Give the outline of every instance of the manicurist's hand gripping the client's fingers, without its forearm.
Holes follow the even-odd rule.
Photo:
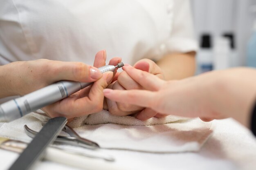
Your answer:
[[[163,79],[163,73],[161,68],[155,64],[152,60],[143,59],[138,61],[135,65],[135,68],[146,71],[150,75],[154,77],[159,77]],[[113,82],[108,86],[110,89],[117,89],[117,90],[131,90],[131,89],[145,89],[145,87],[141,86],[138,82],[130,77],[126,71],[122,71],[117,78],[117,81]],[[141,106],[136,106],[127,103],[120,103],[115,102],[110,99],[106,99],[108,110],[112,115],[124,116],[124,115],[131,115],[137,113],[137,119],[146,120],[151,117],[163,117],[165,115],[157,114],[154,110],[150,108],[144,108]]]

